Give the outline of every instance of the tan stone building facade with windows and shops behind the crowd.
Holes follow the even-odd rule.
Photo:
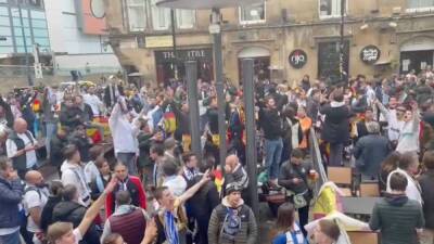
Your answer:
[[[122,65],[145,79],[175,76],[170,11],[156,0],[105,0],[110,42]],[[434,1],[346,0],[345,69],[369,78],[420,72],[434,60]],[[196,60],[200,77],[213,79],[210,11],[176,11],[178,76]],[[224,70],[240,79],[240,60],[255,59],[255,72],[271,80],[299,81],[339,74],[341,0],[268,0],[225,9]]]

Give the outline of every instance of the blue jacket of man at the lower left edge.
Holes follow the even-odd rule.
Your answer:
[[[0,177],[0,229],[20,226],[18,204],[23,194],[20,179],[8,181]]]

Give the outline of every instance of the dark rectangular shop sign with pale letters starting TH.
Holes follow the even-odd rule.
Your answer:
[[[175,61],[174,51],[155,51],[156,63],[166,63]],[[210,49],[191,49],[191,50],[178,50],[177,60],[180,62],[186,61],[212,61],[213,52]]]

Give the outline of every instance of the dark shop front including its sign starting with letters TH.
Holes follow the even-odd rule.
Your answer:
[[[178,50],[177,56],[171,50],[155,51],[156,78],[158,82],[167,82],[170,79],[186,79],[187,61],[197,62],[197,78],[203,81],[210,81],[214,77],[213,50],[188,49]]]

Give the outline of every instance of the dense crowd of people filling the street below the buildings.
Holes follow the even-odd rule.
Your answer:
[[[225,86],[229,146],[219,158],[213,81],[197,80],[200,128],[190,128],[182,81],[138,87],[111,77],[104,86],[0,99],[0,243],[256,243],[242,89]],[[345,82],[305,76],[296,87],[255,78],[259,180],[289,193],[272,242],[340,240],[334,221],[320,220],[312,236],[305,230],[318,178],[308,156],[314,129],[326,167],[355,158],[357,181],[379,183],[384,198],[369,227],[382,243],[432,244],[433,87],[431,67]],[[202,134],[200,155],[190,152],[192,129]],[[50,182],[47,165],[56,170]]]

